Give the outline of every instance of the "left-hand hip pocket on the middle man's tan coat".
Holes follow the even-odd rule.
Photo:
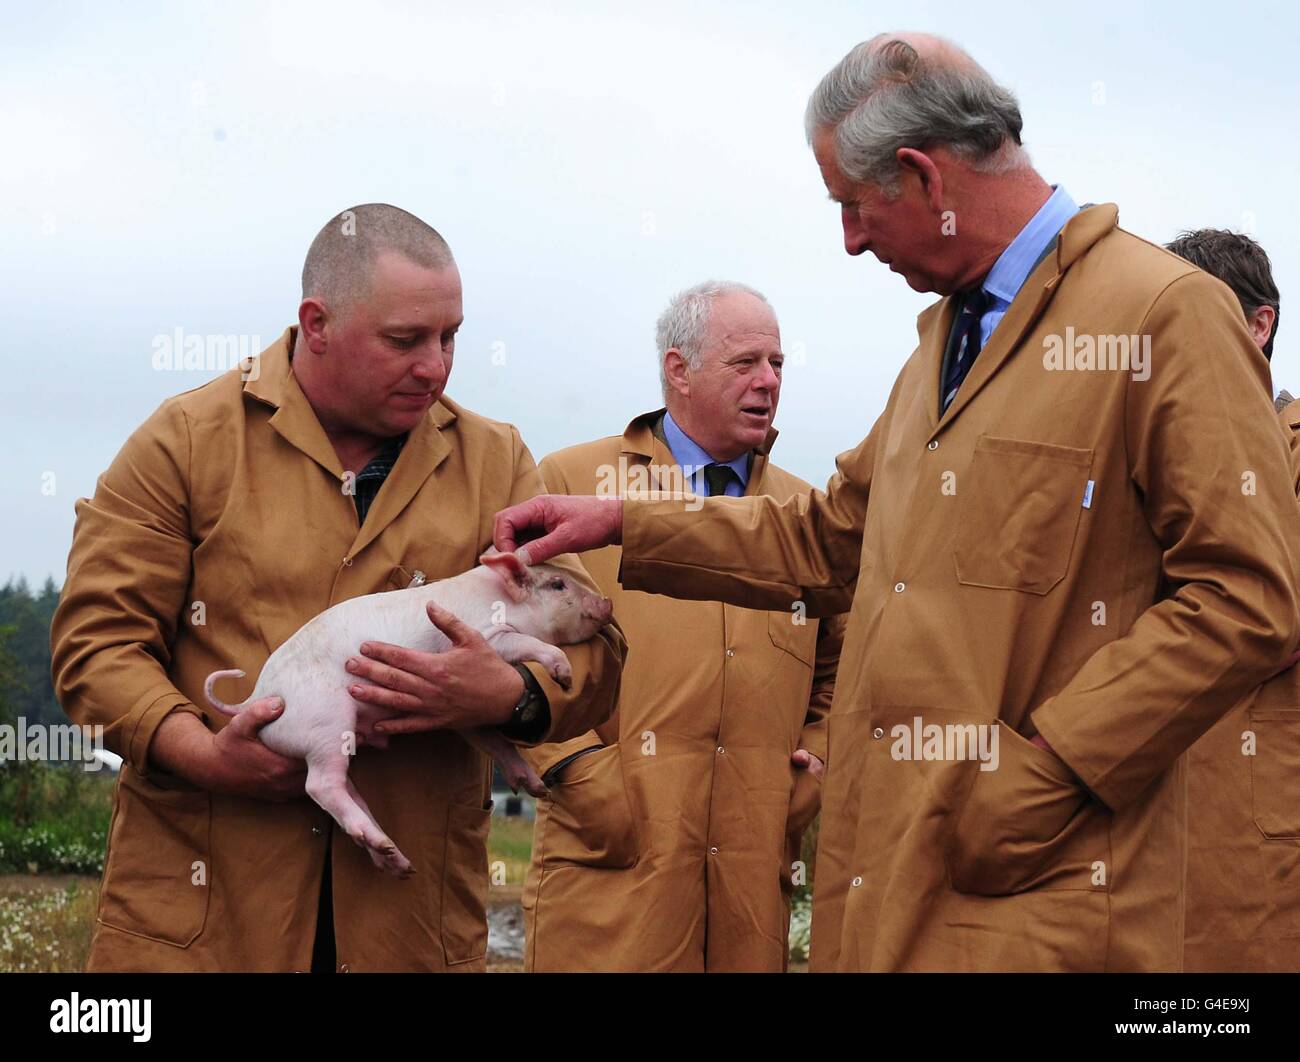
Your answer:
[[[621,870],[637,862],[636,823],[618,745],[578,757],[540,802],[542,866]]]

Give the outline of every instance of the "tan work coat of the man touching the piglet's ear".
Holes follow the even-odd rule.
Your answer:
[[[627,503],[624,586],[852,602],[814,968],[1180,966],[1183,753],[1300,638],[1300,524],[1231,292],[1117,217],[1065,226],[942,416],[926,309],[824,494]]]

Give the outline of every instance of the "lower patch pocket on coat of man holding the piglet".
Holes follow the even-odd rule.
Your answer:
[[[208,918],[212,798],[166,788],[124,766],[117,783],[99,920],[177,948]]]

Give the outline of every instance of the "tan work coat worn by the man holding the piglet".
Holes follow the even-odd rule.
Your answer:
[[[358,528],[343,468],[290,372],[294,329],[260,356],[168,399],[77,503],[55,615],[55,688],[125,758],[91,970],[307,970],[332,838],[341,970],[480,970],[490,815],[488,759],[451,732],[361,749],[351,777],[415,864],[396,880],[312,801],[220,796],[150,770],[172,711],[209,728],[203,681],[240,667],[252,692],[270,653],[337,602],[477,563],[493,515],[541,490],[517,432],[441,400],[411,432]],[[254,374],[250,373],[250,377]],[[572,562],[567,562],[572,563]],[[606,719],[621,636],[571,647],[573,692],[534,667],[550,738]],[[198,707],[196,707],[198,706]]]

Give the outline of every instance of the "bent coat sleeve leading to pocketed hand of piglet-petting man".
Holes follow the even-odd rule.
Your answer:
[[[1032,712],[1112,809],[1136,797],[1300,638],[1300,510],[1269,369],[1228,290],[1175,279],[1140,329],[1150,376],[1130,380],[1130,476],[1164,552],[1169,594]]]

